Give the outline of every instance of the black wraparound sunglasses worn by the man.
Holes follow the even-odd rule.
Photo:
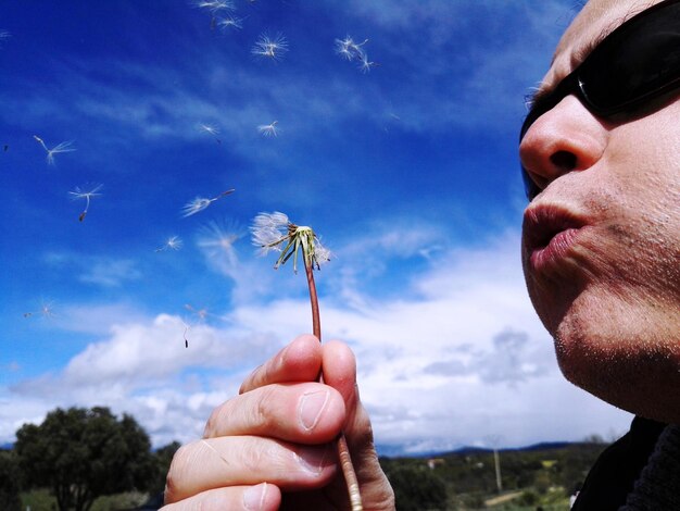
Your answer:
[[[540,96],[519,135],[564,98],[575,95],[600,117],[632,113],[680,87],[680,0],[642,11],[605,37],[585,60],[547,95]],[[527,198],[541,189],[521,167]]]

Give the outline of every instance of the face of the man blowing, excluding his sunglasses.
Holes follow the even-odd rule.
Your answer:
[[[592,0],[563,37],[542,88],[651,3]],[[631,412],[680,421],[680,97],[600,119],[575,96],[520,145],[543,191],[522,226],[529,295],[572,383]]]

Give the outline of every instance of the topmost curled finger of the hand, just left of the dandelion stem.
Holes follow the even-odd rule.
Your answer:
[[[241,385],[239,394],[273,383],[314,382],[320,367],[320,342],[313,335],[302,335],[255,369]]]

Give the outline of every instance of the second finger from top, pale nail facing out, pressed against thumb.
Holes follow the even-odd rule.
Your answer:
[[[274,384],[236,396],[215,408],[203,437],[254,435],[322,444],[340,432],[344,414],[342,396],[327,385]]]

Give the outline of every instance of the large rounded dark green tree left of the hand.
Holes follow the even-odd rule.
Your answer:
[[[30,487],[50,488],[62,511],[87,511],[95,499],[146,490],[156,475],[147,433],[108,408],[56,409],[39,426],[16,432],[14,450]]]

